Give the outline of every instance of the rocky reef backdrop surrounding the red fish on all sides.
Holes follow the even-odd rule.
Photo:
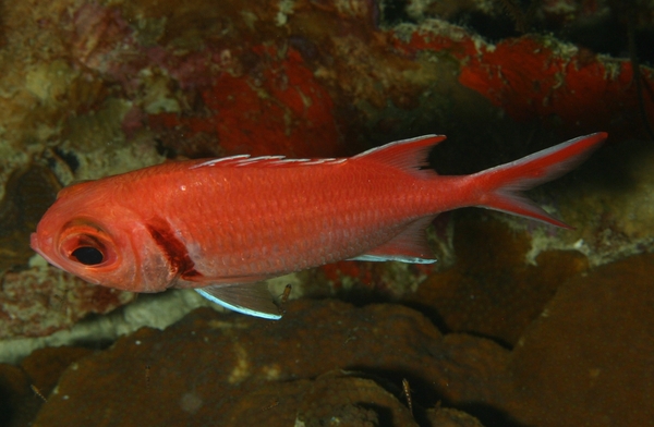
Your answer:
[[[654,425],[654,2],[0,11],[0,425]],[[435,266],[280,278],[277,322],[93,286],[28,247],[62,186],[166,160],[439,133],[434,168],[461,174],[597,131],[530,193],[574,230],[444,213]]]

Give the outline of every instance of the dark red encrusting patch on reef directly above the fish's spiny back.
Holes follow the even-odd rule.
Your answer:
[[[215,134],[227,155],[334,157],[343,154],[331,97],[314,78],[300,52],[278,59],[275,48],[257,46],[247,75],[221,73],[201,90],[207,113],[149,118],[159,132],[184,129],[184,137]]]

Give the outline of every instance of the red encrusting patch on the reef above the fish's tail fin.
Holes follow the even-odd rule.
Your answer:
[[[396,40],[395,48],[410,56],[422,50],[453,56],[461,64],[459,82],[514,120],[555,119],[570,134],[598,129],[623,135],[639,132],[630,119],[639,105],[629,61],[589,56],[545,38],[525,36],[493,46],[462,29],[448,30],[414,32],[409,42]],[[642,68],[641,74],[654,86],[651,69]],[[645,103],[654,121],[654,99],[645,96]]]

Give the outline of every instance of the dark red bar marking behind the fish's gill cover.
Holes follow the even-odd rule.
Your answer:
[[[195,263],[189,256],[186,246],[174,235],[168,221],[155,218],[146,227],[157,245],[164,251],[168,265],[177,277],[182,279],[202,277],[202,273],[195,269]]]

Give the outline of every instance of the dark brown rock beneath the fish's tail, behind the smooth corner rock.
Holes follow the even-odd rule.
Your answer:
[[[542,252],[526,263],[526,231],[487,216],[455,220],[453,266],[428,276],[402,301],[432,318],[443,331],[468,332],[513,346],[568,278],[586,271],[576,251]]]

